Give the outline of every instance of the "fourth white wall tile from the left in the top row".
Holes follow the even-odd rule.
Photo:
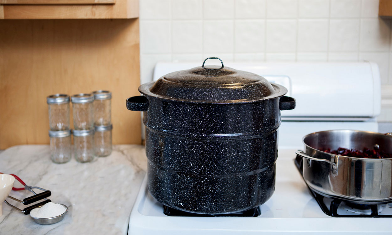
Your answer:
[[[236,0],[237,19],[264,19],[266,0]]]

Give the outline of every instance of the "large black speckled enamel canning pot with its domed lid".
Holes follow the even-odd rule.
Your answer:
[[[139,91],[127,108],[143,111],[148,189],[157,201],[220,214],[271,197],[280,110],[295,107],[285,87],[222,62],[172,72]]]

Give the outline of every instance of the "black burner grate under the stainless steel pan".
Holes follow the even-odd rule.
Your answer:
[[[299,173],[302,175],[303,169],[303,159],[302,157],[297,156],[294,161]],[[308,186],[309,188],[309,186]],[[388,206],[387,204],[374,204],[374,205],[367,205],[367,204],[355,204],[352,202],[346,202],[341,199],[330,199],[327,198],[311,188],[309,188],[310,193],[314,199],[316,199],[318,205],[320,206],[321,210],[331,217],[370,217],[370,218],[392,218],[391,214],[383,214],[379,211],[379,206]],[[328,206],[329,204],[329,206]],[[340,207],[339,207],[340,206]],[[352,208],[357,213],[342,213],[347,208]],[[349,211],[349,210],[346,210]]]

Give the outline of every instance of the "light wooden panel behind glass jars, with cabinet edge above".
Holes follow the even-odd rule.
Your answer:
[[[139,95],[138,13],[99,8],[126,2],[137,5],[1,5],[11,7],[4,16],[29,20],[0,20],[0,149],[49,143],[46,96],[99,89],[113,92],[113,143],[141,143],[140,112],[125,106]]]

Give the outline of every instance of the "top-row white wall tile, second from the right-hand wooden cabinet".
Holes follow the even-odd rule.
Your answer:
[[[331,0],[331,18],[358,18],[361,0]]]

